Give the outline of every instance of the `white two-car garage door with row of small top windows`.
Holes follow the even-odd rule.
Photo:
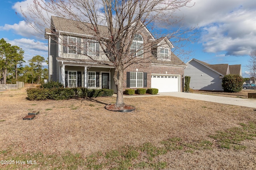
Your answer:
[[[151,75],[151,88],[157,88],[158,92],[179,92],[179,75]]]

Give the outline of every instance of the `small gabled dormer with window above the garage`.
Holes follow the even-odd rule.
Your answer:
[[[170,61],[171,49],[174,48],[167,37],[162,37],[156,40],[156,44],[152,47],[152,53],[157,60]]]

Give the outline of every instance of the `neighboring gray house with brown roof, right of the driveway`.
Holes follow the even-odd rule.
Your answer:
[[[186,63],[185,76],[190,76],[190,88],[193,90],[222,91],[222,78],[227,74],[242,76],[241,64],[208,64],[197,59]]]

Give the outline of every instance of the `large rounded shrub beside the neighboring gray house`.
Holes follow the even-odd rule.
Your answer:
[[[222,79],[222,88],[224,92],[240,92],[244,79],[238,74],[228,74]]]

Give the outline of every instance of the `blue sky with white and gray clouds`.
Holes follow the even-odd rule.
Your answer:
[[[47,59],[48,55],[47,41],[33,33],[20,15],[20,8],[31,2],[0,2],[0,38],[21,47],[25,61],[35,55]],[[195,58],[209,64],[241,64],[243,77],[249,77],[246,65],[250,52],[256,50],[255,0],[192,0],[188,6],[192,7],[182,8],[177,15],[185,17],[184,25],[197,25],[200,34],[197,42],[188,45],[194,52],[187,61]]]

